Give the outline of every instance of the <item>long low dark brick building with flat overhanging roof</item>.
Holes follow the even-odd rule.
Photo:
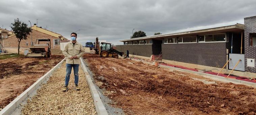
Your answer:
[[[256,58],[256,16],[245,18],[245,25],[235,24],[196,31],[160,34],[125,39],[121,42],[124,42],[124,45],[118,45],[117,50],[123,52],[129,50],[131,57],[150,59],[151,55],[162,53],[162,61],[165,63],[210,69],[214,72],[219,72],[229,58],[233,58],[233,63],[235,63],[233,54],[237,54],[242,57],[242,61],[238,64],[240,68],[237,66],[235,70],[256,73],[254,63]],[[247,65],[248,58],[253,63],[250,63],[251,66]],[[226,71],[233,68],[233,63],[225,67]]]

